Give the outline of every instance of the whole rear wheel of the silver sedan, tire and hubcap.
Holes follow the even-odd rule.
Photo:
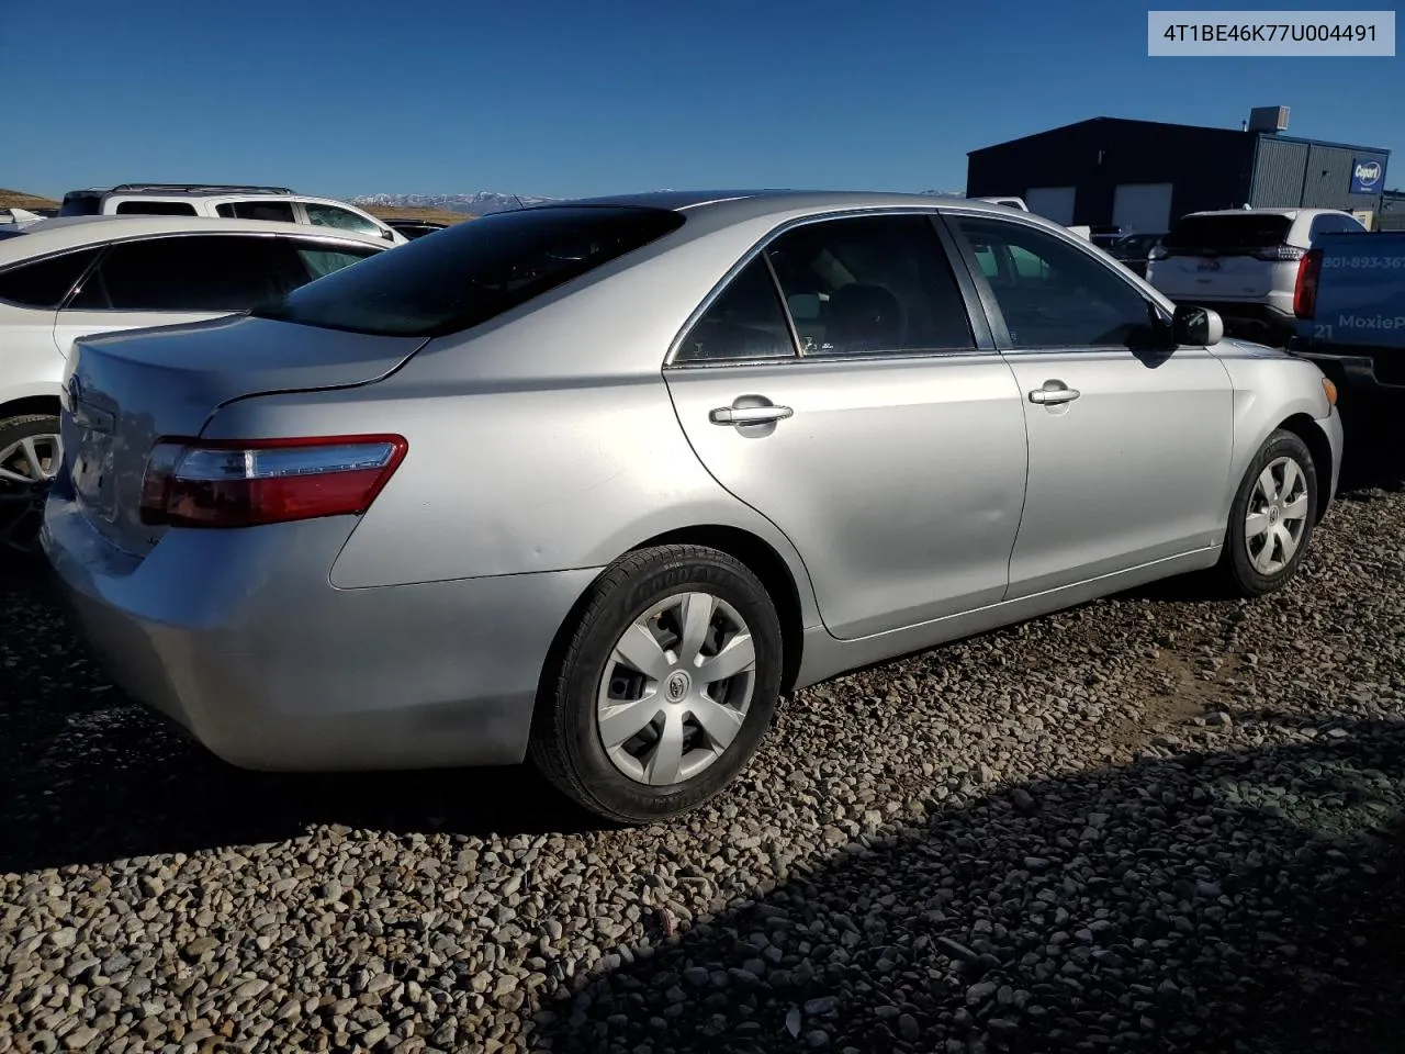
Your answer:
[[[537,767],[606,819],[667,819],[756,752],[780,694],[780,621],[728,554],[641,549],[592,586],[555,673],[534,721]]]

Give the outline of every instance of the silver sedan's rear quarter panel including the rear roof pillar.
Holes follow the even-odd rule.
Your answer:
[[[235,402],[204,434],[407,438],[330,572],[343,589],[601,568],[660,534],[721,526],[785,561],[805,624],[818,624],[795,547],[707,472],[662,372],[688,315],[769,226],[729,228],[642,280],[622,268],[437,339],[362,388]]]

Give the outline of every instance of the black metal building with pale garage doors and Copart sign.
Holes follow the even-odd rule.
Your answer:
[[[1094,117],[972,150],[967,195],[1019,195],[1058,223],[1156,233],[1217,208],[1339,208],[1377,228],[1390,150],[1283,135],[1287,110],[1243,131]]]

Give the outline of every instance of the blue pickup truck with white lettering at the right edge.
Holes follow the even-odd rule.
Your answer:
[[[1405,392],[1405,232],[1315,239],[1293,312],[1288,351],[1339,384]]]

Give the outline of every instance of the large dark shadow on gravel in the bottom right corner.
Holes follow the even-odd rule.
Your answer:
[[[1405,1050],[1405,724],[1322,728],[933,802],[607,957],[530,1048]]]

